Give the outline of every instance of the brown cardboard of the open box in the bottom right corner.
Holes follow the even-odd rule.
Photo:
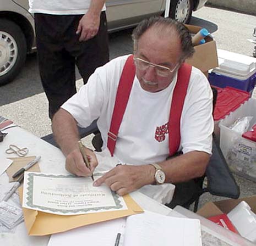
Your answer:
[[[244,197],[239,199],[226,199],[221,200],[219,202],[209,202],[206,203],[202,208],[197,211],[197,214],[207,218],[210,216],[220,215],[220,214],[227,214],[230,212],[235,206],[245,201],[249,204],[250,208],[252,209],[253,213],[256,213],[256,195],[252,197]]]

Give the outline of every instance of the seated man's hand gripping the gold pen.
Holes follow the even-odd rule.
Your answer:
[[[98,161],[95,153],[90,149],[85,148],[85,153],[90,162],[91,170],[86,167],[83,156],[78,148],[74,149],[67,155],[66,170],[77,176],[91,176],[95,167],[98,165]]]

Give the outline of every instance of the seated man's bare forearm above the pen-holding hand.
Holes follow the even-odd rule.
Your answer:
[[[66,110],[59,109],[52,120],[52,131],[56,142],[65,156],[78,148],[79,133],[77,122]]]

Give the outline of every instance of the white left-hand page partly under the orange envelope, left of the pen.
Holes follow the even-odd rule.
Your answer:
[[[126,218],[121,218],[53,234],[48,246],[114,246],[117,233],[123,231],[125,224]]]

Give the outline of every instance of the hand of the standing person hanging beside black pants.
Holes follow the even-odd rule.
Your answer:
[[[79,41],[86,41],[94,37],[99,30],[99,25],[100,15],[94,15],[90,12],[84,14],[75,32],[76,34],[80,33]]]

